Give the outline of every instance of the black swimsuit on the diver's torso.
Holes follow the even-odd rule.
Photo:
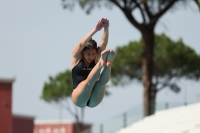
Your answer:
[[[73,89],[75,89],[80,82],[87,78],[95,65],[96,63],[94,60],[90,63],[89,66],[84,63],[83,59],[79,61],[79,63],[72,69]]]

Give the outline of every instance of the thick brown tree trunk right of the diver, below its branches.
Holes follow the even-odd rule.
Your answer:
[[[142,37],[144,41],[144,51],[142,53],[143,116],[145,117],[155,112],[156,90],[152,87],[154,28],[145,26],[142,31]]]

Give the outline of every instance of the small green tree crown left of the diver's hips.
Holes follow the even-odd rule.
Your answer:
[[[59,102],[70,97],[72,89],[71,70],[66,70],[55,77],[49,77],[49,81],[44,83],[41,98],[46,102]]]

